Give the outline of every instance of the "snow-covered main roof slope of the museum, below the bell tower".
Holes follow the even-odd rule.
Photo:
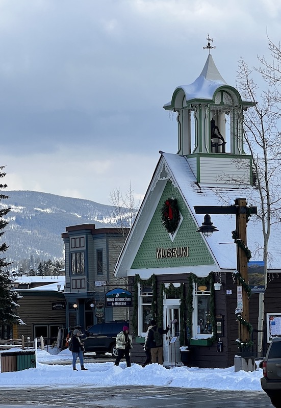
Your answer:
[[[194,206],[227,206],[236,198],[246,198],[248,206],[257,206],[260,201],[257,189],[253,187],[228,187],[227,185],[198,185],[194,174],[185,157],[164,153],[163,159],[169,169],[173,183],[185,198],[187,205],[198,226],[204,220],[204,214],[195,214]],[[232,231],[236,229],[235,215],[211,214],[211,221],[219,232],[214,232],[206,243],[210,247],[221,269],[236,269],[236,245],[232,239]],[[198,233],[199,234],[199,233]],[[269,269],[281,269],[281,227],[277,223],[271,231],[269,240]],[[263,233],[262,225],[257,216],[252,215],[247,223],[247,246],[251,250],[251,261],[262,261]]]

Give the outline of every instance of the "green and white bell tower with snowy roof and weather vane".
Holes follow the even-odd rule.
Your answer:
[[[164,109],[177,113],[178,155],[185,156],[198,183],[252,184],[251,156],[243,148],[243,110],[252,106],[221,77],[210,50],[199,77],[175,88]]]

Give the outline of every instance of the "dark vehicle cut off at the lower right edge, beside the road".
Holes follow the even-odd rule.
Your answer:
[[[281,338],[270,343],[263,362],[262,389],[271,399],[272,405],[281,408]]]

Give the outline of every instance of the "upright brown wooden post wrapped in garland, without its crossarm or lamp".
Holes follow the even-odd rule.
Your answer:
[[[237,198],[236,206],[238,212],[236,214],[236,231],[238,238],[247,246],[247,214],[246,214],[246,199]],[[237,245],[237,269],[241,277],[248,284],[248,258],[247,254],[239,245]],[[249,298],[245,289],[242,286],[243,312],[242,318],[249,321]],[[249,330],[244,324],[239,324],[239,338],[241,342],[249,341]]]

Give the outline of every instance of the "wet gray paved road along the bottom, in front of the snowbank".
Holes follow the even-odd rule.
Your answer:
[[[1,385],[0,385],[1,386]],[[264,392],[169,387],[0,388],[0,408],[270,408]]]

